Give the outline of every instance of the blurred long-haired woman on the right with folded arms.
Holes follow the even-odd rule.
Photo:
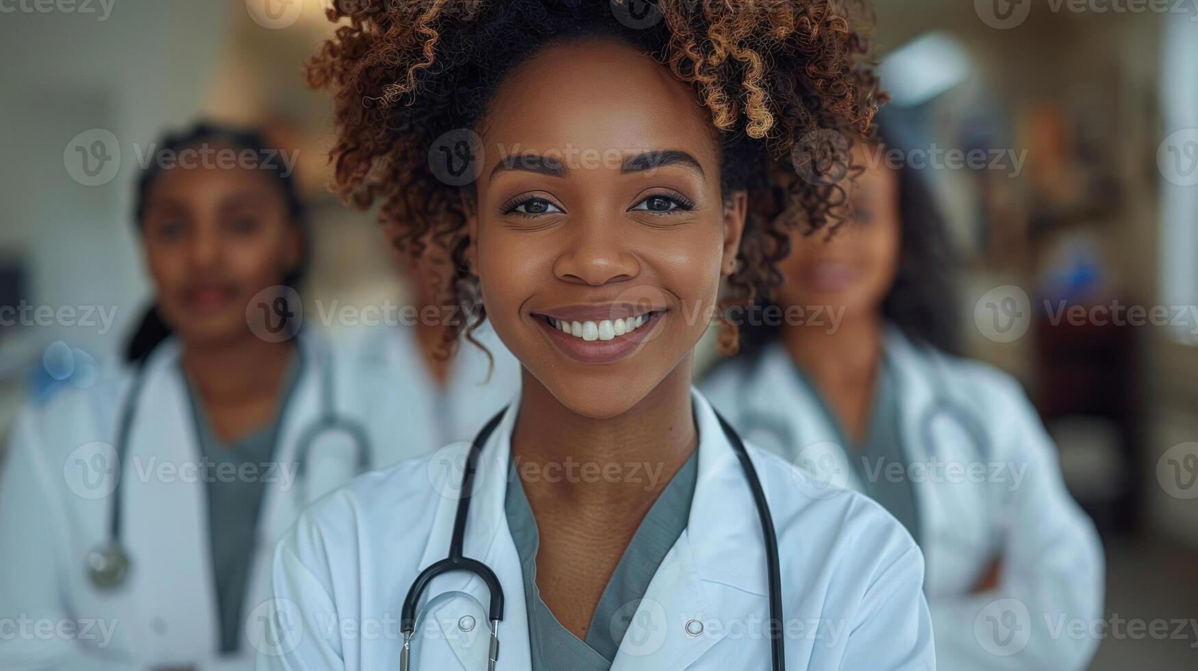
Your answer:
[[[1097,641],[1060,625],[1101,617],[1097,537],[1019,385],[945,353],[945,231],[890,149],[854,147],[855,220],[794,240],[776,303],[702,388],[749,440],[908,527],[943,667],[1084,669]]]

